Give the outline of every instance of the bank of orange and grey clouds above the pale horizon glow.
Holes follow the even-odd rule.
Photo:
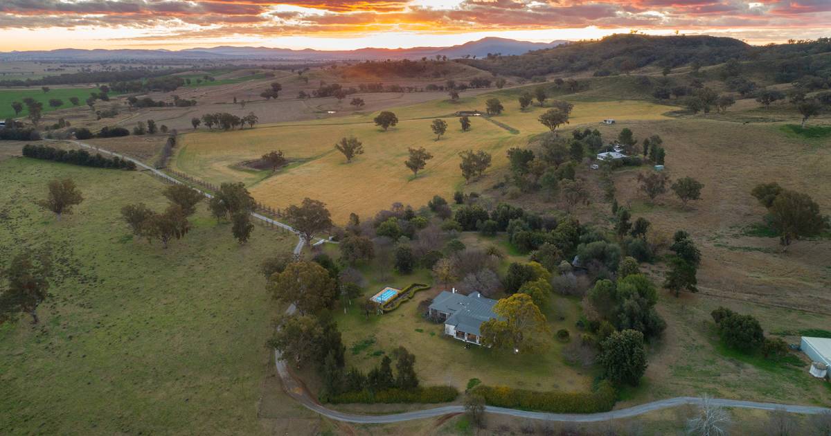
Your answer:
[[[2,0],[0,29],[140,29],[134,39],[546,28],[831,28],[831,0]],[[2,30],[0,30],[2,32]]]

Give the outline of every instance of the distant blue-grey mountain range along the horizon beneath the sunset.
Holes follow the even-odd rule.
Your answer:
[[[0,61],[114,61],[114,60],[192,60],[192,61],[339,61],[339,60],[378,60],[378,59],[418,59],[421,57],[447,56],[458,58],[464,56],[484,57],[489,53],[503,56],[521,55],[528,51],[556,47],[566,41],[527,42],[513,39],[487,37],[479,41],[465,42],[453,47],[413,47],[413,48],[361,48],[358,50],[292,50],[288,48],[269,47],[210,47],[188,48],[179,51],[170,50],[82,50],[61,48],[49,51],[4,51],[0,52]]]

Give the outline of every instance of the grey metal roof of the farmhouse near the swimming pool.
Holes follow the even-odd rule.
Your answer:
[[[458,292],[441,291],[433,299],[430,309],[449,313],[445,324],[455,326],[465,333],[479,336],[479,326],[492,318],[501,319],[494,313],[496,300],[484,297],[479,292],[462,295]]]

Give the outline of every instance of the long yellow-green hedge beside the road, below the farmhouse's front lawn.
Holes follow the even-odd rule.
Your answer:
[[[474,391],[484,397],[485,404],[491,406],[558,414],[607,412],[614,407],[616,397],[615,389],[605,381],[593,392],[542,392],[486,385],[476,386]]]

